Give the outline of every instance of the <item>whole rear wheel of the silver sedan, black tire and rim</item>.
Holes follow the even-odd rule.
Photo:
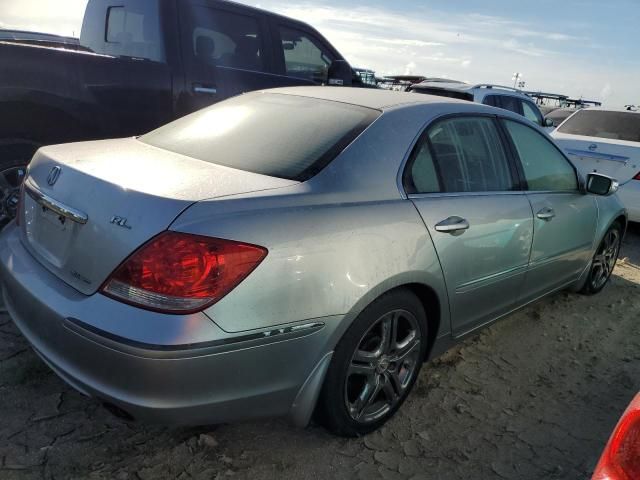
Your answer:
[[[319,423],[344,437],[381,427],[418,378],[427,334],[424,307],[412,292],[394,290],[371,303],[335,349],[316,410]]]

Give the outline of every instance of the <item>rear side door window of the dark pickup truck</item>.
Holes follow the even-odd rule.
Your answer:
[[[247,15],[193,7],[189,14],[188,41],[199,63],[262,71],[260,25]]]

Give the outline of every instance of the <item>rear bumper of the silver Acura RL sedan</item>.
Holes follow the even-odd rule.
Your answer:
[[[309,380],[323,373],[316,367],[330,358],[341,320],[232,336],[203,314],[161,315],[85,296],[37,263],[14,227],[0,236],[0,285],[13,321],[60,377],[135,419],[162,424],[287,414],[304,423],[311,412],[292,406],[313,408],[317,391],[302,387],[319,389],[317,378]]]

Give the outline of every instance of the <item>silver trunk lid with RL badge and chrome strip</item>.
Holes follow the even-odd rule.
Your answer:
[[[29,167],[22,239],[53,274],[89,295],[193,203],[295,183],[135,139],[45,147]]]

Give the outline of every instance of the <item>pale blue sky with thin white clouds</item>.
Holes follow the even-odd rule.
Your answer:
[[[241,0],[318,29],[352,66],[640,103],[640,0]],[[0,28],[79,35],[86,0],[0,0]]]

